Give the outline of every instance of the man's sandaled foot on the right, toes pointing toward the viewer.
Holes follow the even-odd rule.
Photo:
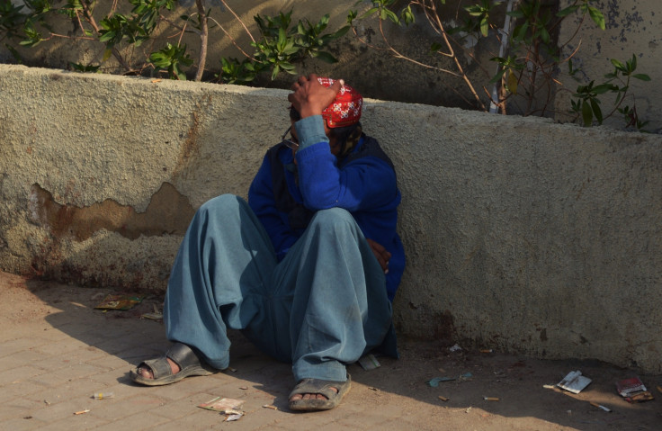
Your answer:
[[[330,382],[318,379],[303,379],[290,394],[290,409],[315,411],[334,409],[351,386],[350,375],[346,382]]]

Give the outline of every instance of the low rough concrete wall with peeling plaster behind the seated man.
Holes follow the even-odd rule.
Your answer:
[[[287,93],[0,66],[0,269],[164,289]],[[661,136],[378,100],[363,123],[403,193],[400,334],[662,372]]]

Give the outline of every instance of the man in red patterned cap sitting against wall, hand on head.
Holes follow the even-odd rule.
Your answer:
[[[405,267],[393,165],[362,132],[362,96],[342,81],[300,76],[291,127],[267,151],[248,202],[205,202],[165,294],[164,356],[131,378],[154,386],[228,367],[227,329],[291,362],[292,410],[333,409],[345,365],[373,349],[397,356],[391,301]],[[291,133],[291,139],[286,139]]]

